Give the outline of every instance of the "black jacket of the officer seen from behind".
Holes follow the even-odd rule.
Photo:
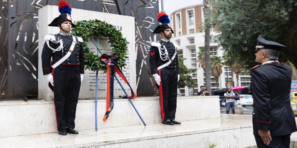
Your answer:
[[[289,66],[272,63],[250,70],[254,103],[253,134],[270,130],[271,136],[283,136],[297,131],[290,105],[291,74]]]

